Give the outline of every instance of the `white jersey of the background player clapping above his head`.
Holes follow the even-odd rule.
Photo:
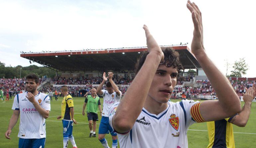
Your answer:
[[[109,113],[110,107],[114,103],[120,102],[121,96],[122,96],[122,92],[119,90],[120,96],[117,96],[116,92],[113,92],[112,94],[109,94],[108,91],[105,90],[105,89],[103,89],[101,91],[103,91],[103,94],[102,94],[102,97],[103,97],[102,116],[108,117],[108,113]]]

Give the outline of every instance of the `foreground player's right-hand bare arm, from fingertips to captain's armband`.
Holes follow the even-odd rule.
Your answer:
[[[218,70],[208,58],[203,46],[202,15],[195,3],[188,1],[187,8],[192,13],[194,24],[192,53],[203,68],[213,89],[218,95],[218,101],[203,101],[200,104],[200,113],[204,121],[215,121],[231,117],[241,111],[240,100],[228,79]]]

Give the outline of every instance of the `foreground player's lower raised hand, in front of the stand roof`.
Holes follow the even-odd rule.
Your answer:
[[[148,52],[156,52],[156,54],[160,54],[161,56],[161,61],[164,60],[164,53],[160,46],[157,44],[156,40],[152,36],[152,34],[149,32],[148,26],[144,25],[143,29],[145,30],[146,38],[147,38],[147,47],[148,47]]]

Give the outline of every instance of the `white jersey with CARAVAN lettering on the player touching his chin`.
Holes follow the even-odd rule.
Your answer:
[[[17,94],[12,105],[12,110],[20,111],[18,137],[24,139],[45,138],[45,118],[39,114],[26,95],[27,92]],[[51,111],[50,97],[47,94],[39,92],[35,96],[35,100],[43,109]]]

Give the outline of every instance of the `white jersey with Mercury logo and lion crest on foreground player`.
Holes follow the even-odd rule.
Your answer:
[[[127,133],[118,133],[121,148],[188,148],[187,131],[192,120],[190,109],[199,103],[193,100],[181,102],[168,101],[168,107],[159,115],[142,109],[132,129]],[[115,103],[109,113],[109,123],[119,103]],[[113,128],[114,129],[114,128]]]

